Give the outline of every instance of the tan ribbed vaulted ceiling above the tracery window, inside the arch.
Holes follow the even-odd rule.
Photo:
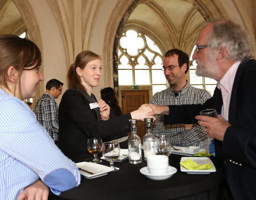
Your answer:
[[[202,14],[188,1],[153,0],[142,1],[130,15],[125,28],[143,31],[163,46],[164,51],[174,47],[189,51],[203,23]]]

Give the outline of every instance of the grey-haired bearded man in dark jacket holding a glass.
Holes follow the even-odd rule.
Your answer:
[[[199,33],[193,59],[196,74],[218,81],[213,97],[203,105],[154,106],[149,115],[164,114],[164,123],[205,126],[214,138],[216,156],[225,161],[234,199],[255,199],[256,61],[247,31],[228,20],[207,24]],[[198,115],[215,108],[218,118]],[[195,117],[196,116],[196,117]]]

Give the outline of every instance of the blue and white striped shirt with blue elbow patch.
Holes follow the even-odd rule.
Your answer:
[[[81,179],[26,103],[0,89],[0,199],[16,199],[39,178],[57,195]]]

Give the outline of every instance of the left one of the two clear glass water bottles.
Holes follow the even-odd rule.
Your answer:
[[[141,140],[137,135],[137,119],[129,119],[132,135],[128,140],[129,163],[138,164],[142,162],[141,158]]]

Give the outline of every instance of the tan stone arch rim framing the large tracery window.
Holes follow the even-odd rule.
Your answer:
[[[107,25],[105,34],[105,42],[103,46],[103,65],[109,66],[109,70],[105,71],[105,83],[114,86],[118,95],[118,70],[117,70],[117,50],[122,30],[129,19],[131,13],[140,4],[152,4],[150,0],[127,0],[119,1],[116,9],[111,14],[111,18]],[[226,10],[223,8],[220,0],[203,1],[203,0],[187,0],[196,10],[203,16],[205,21],[213,18],[229,18]],[[197,28],[199,31],[199,27]],[[196,34],[195,34],[196,35]]]

